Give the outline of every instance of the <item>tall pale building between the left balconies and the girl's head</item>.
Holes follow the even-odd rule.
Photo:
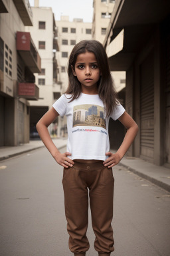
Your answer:
[[[39,101],[30,101],[31,136],[34,136],[37,131],[35,127],[37,121],[60,96],[61,82],[57,62],[59,56],[56,57],[59,49],[54,13],[50,7],[39,7],[37,0],[31,10],[33,12],[33,27],[26,27],[26,30],[31,33],[41,56],[41,73],[35,74],[35,81],[39,86]],[[54,135],[56,125],[50,125],[49,131]]]

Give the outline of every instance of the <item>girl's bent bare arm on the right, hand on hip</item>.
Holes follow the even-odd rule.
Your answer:
[[[120,146],[118,151],[115,154],[111,152],[106,153],[106,155],[109,155],[110,157],[108,157],[108,159],[104,161],[104,165],[108,166],[109,168],[113,167],[114,165],[117,165],[120,162],[120,160],[124,157],[131,143],[135,139],[135,136],[137,135],[137,131],[138,131],[137,124],[128,115],[126,111],[118,120],[124,125],[124,127],[126,127],[127,132],[124,137],[124,141],[122,142],[122,145]]]

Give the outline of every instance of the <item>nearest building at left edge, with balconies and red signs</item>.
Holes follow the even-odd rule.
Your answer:
[[[33,73],[41,72],[41,58],[26,25],[33,26],[29,1],[0,0],[1,147],[29,142],[28,99],[39,99]]]

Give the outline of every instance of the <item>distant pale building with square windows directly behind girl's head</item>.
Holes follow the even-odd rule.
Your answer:
[[[92,23],[84,23],[82,19],[69,21],[68,16],[61,16],[60,21],[56,21],[56,26],[60,49],[60,79],[62,81],[62,93],[64,93],[68,87],[68,57],[76,43],[92,39]],[[66,117],[58,117],[58,137],[60,136],[67,136]]]

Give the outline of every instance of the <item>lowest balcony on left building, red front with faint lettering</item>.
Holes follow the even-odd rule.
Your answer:
[[[30,101],[38,101],[39,87],[35,83],[19,83],[18,96]]]

